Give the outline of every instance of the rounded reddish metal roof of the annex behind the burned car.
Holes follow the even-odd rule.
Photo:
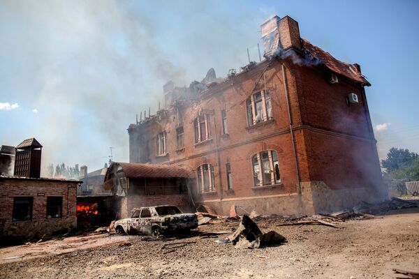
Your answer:
[[[117,168],[115,170],[115,167]],[[195,172],[186,167],[175,165],[154,165],[139,163],[112,163],[108,172],[106,172],[105,181],[110,179],[110,174],[115,172],[124,172],[128,178],[142,177],[184,177],[193,178]]]

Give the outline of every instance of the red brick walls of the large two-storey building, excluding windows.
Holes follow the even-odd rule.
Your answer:
[[[138,145],[148,142],[151,163],[186,165],[193,170],[205,162],[212,164],[216,193],[198,194],[195,186],[193,193],[198,202],[216,202],[226,197],[295,193],[297,190],[295,159],[279,61],[273,61],[265,72],[266,88],[270,90],[272,96],[273,121],[247,128],[246,99],[251,93],[264,88],[261,74],[266,66],[265,61],[229,82],[214,86],[201,96],[200,103],[186,103],[182,119],[177,119],[177,111],[170,108],[166,116],[162,114],[154,123],[140,124],[141,131],[135,132],[135,126],[131,126],[130,153],[136,152]],[[338,84],[329,84],[325,74],[320,68],[300,67],[286,62],[286,80],[295,128],[300,180],[325,181],[332,188],[369,185],[371,177],[378,179],[379,165],[366,109],[367,104],[363,103],[365,99],[362,96],[362,87],[344,82],[344,79],[339,80]],[[346,96],[351,92],[358,93],[361,103],[348,107]],[[194,138],[193,119],[198,116],[200,110],[209,113],[211,118],[212,140],[205,144],[195,144]],[[226,110],[228,119],[229,134],[223,136],[221,136],[221,110]],[[185,147],[182,151],[176,151],[176,128],[182,122]],[[314,132],[315,129],[328,133],[318,135]],[[168,155],[158,157],[155,156],[156,134],[163,130],[167,133]],[[346,140],[340,134],[356,135],[369,139],[369,142],[357,140],[355,137]],[[139,135],[149,135],[149,140],[141,142],[135,140]],[[131,148],[133,145],[135,148]],[[354,153],[351,153],[354,148],[363,156],[358,153],[354,156]],[[251,156],[269,149],[278,153],[282,185],[253,188]],[[217,151],[220,160],[217,158]],[[130,158],[138,156],[130,154]],[[361,159],[362,164],[360,164]],[[341,161],[345,162],[342,168],[336,164]],[[233,190],[230,191],[226,190],[227,162],[230,163],[233,176]],[[134,160],[132,163],[145,162]],[[359,167],[359,165],[368,167]],[[374,169],[374,175],[371,175],[369,169]]]

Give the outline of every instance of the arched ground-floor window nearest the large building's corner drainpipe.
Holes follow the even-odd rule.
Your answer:
[[[251,158],[254,186],[266,186],[281,183],[277,151],[259,152]]]

